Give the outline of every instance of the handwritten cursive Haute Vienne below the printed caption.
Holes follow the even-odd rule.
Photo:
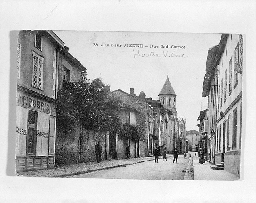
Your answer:
[[[161,53],[163,55],[161,55]],[[136,59],[136,57],[170,57],[170,58],[186,58],[188,56],[185,56],[184,54],[176,54],[174,51],[173,52],[169,52],[169,51],[165,51],[163,50],[163,52],[149,52],[149,53],[145,53],[145,52],[140,52],[139,50],[134,51],[133,50],[133,56]]]

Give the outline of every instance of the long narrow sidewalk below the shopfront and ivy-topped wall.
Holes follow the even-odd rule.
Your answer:
[[[167,155],[171,157],[171,155]],[[162,159],[162,156],[159,156]],[[133,159],[112,159],[112,160],[102,160],[101,163],[87,162],[87,163],[77,163],[70,165],[62,165],[54,167],[52,169],[45,170],[33,170],[26,172],[18,172],[17,176],[29,176],[29,177],[66,177],[72,175],[79,175],[84,173],[89,173],[97,170],[111,169],[114,167],[122,167],[130,164],[141,163],[144,161],[155,160],[155,157],[139,157]]]

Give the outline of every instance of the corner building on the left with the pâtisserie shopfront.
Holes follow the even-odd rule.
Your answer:
[[[59,52],[52,31],[20,31],[17,52],[16,171],[55,165]]]

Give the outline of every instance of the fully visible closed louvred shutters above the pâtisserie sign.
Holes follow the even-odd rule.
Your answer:
[[[43,61],[44,58],[33,52],[32,86],[43,89]]]

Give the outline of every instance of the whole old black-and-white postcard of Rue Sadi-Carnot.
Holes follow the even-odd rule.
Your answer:
[[[18,176],[239,180],[241,34],[22,30],[17,42]]]

